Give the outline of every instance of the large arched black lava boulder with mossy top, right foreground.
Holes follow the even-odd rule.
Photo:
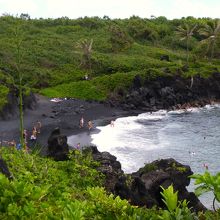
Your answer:
[[[151,197],[156,200],[155,205],[164,207],[162,201],[162,188],[168,188],[173,185],[175,191],[178,191],[178,199],[189,201],[189,207],[195,212],[205,211],[206,207],[199,201],[196,195],[188,192],[187,186],[190,184],[189,176],[193,172],[187,165],[183,165],[176,160],[162,159],[156,160],[145,167],[133,173],[133,178],[140,178],[145,185],[145,188]]]

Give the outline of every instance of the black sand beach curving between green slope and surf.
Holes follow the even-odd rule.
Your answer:
[[[29,139],[36,122],[40,121],[42,123],[37,141],[43,146],[43,153],[46,150],[48,137],[56,127],[59,127],[64,135],[77,135],[74,142],[79,142],[81,146],[84,146],[90,144],[90,134],[98,132],[97,125],[108,124],[114,118],[130,114],[97,102],[76,99],[62,99],[59,102],[53,102],[51,99],[39,95],[37,95],[37,100],[35,110],[24,112],[24,128],[28,131]],[[79,128],[79,120],[82,116],[85,119],[85,126]],[[94,125],[91,131],[87,127],[88,120],[91,120]],[[11,141],[13,139],[17,143],[19,142],[18,116],[11,120],[0,121],[0,141]]]

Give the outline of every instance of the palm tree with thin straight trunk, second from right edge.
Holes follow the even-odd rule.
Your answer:
[[[187,66],[189,63],[189,42],[190,39],[193,36],[193,32],[195,31],[197,27],[197,24],[195,24],[193,27],[190,27],[189,24],[184,23],[182,26],[178,26],[177,30],[176,30],[176,35],[180,37],[180,40],[186,41],[186,62],[187,62]]]

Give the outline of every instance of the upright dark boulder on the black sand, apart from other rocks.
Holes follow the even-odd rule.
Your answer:
[[[55,128],[48,139],[48,156],[56,161],[68,159],[69,146],[67,136],[60,133],[59,128]]]

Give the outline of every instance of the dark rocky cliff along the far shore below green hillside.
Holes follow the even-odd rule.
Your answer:
[[[220,100],[220,73],[209,78],[199,75],[184,78],[180,75],[164,75],[142,79],[139,75],[126,93],[118,94],[109,102],[125,110],[156,111],[203,106]]]

